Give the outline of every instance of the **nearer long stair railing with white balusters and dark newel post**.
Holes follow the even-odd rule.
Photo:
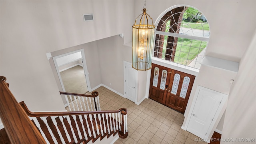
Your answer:
[[[20,105],[33,120],[47,144],[80,144],[118,133],[128,136],[127,110],[86,112],[30,112],[24,102]]]

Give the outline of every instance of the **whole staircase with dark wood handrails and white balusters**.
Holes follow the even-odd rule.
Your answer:
[[[26,134],[29,138],[38,137],[36,138],[38,144],[41,144],[42,140],[46,144],[86,144],[90,141],[102,140],[105,137],[109,138],[117,133],[120,138],[128,136],[127,110],[121,108],[100,111],[98,92],[92,92],[92,95],[60,92],[66,97],[70,112],[30,112],[24,102],[16,101],[5,81],[6,78],[1,76],[1,119],[8,137],[13,143],[16,143],[16,140],[11,139],[17,138],[16,135],[22,134],[24,130],[29,132]],[[14,105],[14,109],[10,112],[13,115],[8,112],[3,114],[3,110],[9,110],[8,104],[4,103],[10,100]],[[22,117],[18,115],[22,115]],[[28,118],[30,122],[27,120]],[[26,120],[24,121],[24,119]],[[18,123],[16,123],[17,121]],[[12,127],[10,123],[14,124],[13,126],[18,125],[23,131],[13,132],[15,127]],[[27,128],[30,129],[26,130]],[[31,134],[30,131],[32,131]],[[9,135],[9,133],[11,134]],[[41,136],[38,136],[38,133]],[[32,144],[34,142],[19,140],[19,143]]]

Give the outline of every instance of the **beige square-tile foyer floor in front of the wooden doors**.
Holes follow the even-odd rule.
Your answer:
[[[154,100],[145,99],[137,105],[103,86],[95,91],[99,92],[101,110],[128,110],[128,137],[114,144],[207,144],[180,128],[183,114]]]

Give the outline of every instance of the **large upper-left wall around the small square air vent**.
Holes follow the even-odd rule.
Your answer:
[[[16,99],[32,111],[64,110],[46,53],[120,33],[130,42],[133,6],[134,1],[1,0],[1,75]],[[88,13],[94,20],[84,22]]]

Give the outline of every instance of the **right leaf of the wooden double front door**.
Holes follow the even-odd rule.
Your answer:
[[[166,106],[184,114],[195,76],[172,70],[169,81]]]

